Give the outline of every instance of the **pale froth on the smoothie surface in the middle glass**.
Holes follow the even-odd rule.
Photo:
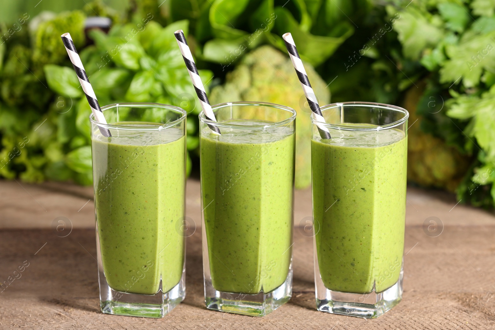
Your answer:
[[[233,119],[224,121],[225,124],[239,125],[239,126],[258,126],[263,127],[265,125],[273,124],[271,121],[264,120],[246,120],[246,119]],[[260,132],[259,129],[241,129],[241,128],[228,128],[221,127],[220,131],[222,135],[212,133],[208,127],[202,129],[201,135],[203,137],[227,142],[227,143],[268,143],[274,141],[280,141],[294,133],[294,130],[290,126],[278,126],[264,129]],[[256,134],[254,134],[256,133]]]

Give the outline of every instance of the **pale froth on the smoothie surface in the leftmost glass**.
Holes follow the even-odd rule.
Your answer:
[[[134,122],[119,122],[113,125],[123,125],[123,126],[136,126],[143,128],[158,127],[162,124],[156,123],[134,123]],[[126,144],[126,145],[156,145],[169,143],[179,140],[184,134],[182,129],[179,127],[167,128],[159,131],[129,131],[129,130],[113,130],[110,129],[112,134],[111,137],[107,138],[102,136],[97,129],[93,134],[93,140],[115,143],[115,144]]]

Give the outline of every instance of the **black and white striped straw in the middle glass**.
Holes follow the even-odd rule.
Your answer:
[[[191,49],[189,49],[189,46],[187,44],[184,32],[182,30],[177,30],[174,32],[174,35],[175,39],[177,39],[177,45],[179,45],[179,49],[181,50],[184,62],[186,63],[189,76],[193,81],[193,86],[196,90],[196,94],[198,95],[199,103],[201,104],[204,115],[207,119],[216,121],[215,114],[213,113],[213,110],[211,110],[210,101],[208,101],[208,96],[206,96],[206,92],[204,91],[203,83],[201,82],[201,78],[199,77],[198,69],[196,68],[196,63],[194,62]],[[220,130],[215,125],[208,124],[208,127],[213,132],[220,134]]]

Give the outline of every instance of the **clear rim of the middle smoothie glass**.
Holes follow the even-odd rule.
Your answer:
[[[249,130],[265,130],[267,128],[279,127],[279,126],[283,126],[285,124],[288,124],[288,123],[290,123],[296,119],[296,114],[297,114],[296,110],[294,110],[293,108],[291,108],[289,106],[276,104],[276,103],[254,102],[254,101],[236,101],[236,102],[219,103],[219,104],[215,104],[214,106],[212,106],[211,109],[216,110],[216,109],[230,107],[232,105],[239,105],[239,106],[261,105],[261,106],[266,106],[269,108],[276,108],[279,110],[292,112],[292,116],[287,118],[287,119],[284,119],[282,121],[271,123],[268,125],[236,125],[236,124],[227,124],[227,123],[209,120],[205,117],[204,111],[201,111],[198,115],[199,120],[202,123],[211,124],[211,125],[217,126],[217,127],[235,128],[235,129],[249,129]]]

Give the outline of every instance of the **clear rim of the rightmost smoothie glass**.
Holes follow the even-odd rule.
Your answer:
[[[402,125],[403,123],[406,122],[406,120],[409,118],[409,112],[396,105],[392,104],[385,104],[385,103],[376,103],[376,102],[359,102],[359,101],[350,101],[350,102],[337,102],[337,103],[331,103],[331,104],[326,104],[320,107],[320,110],[326,111],[329,109],[334,109],[334,108],[339,108],[342,106],[347,106],[347,107],[353,107],[353,106],[361,106],[361,107],[368,107],[368,108],[381,108],[381,109],[389,109],[389,110],[395,110],[397,112],[401,112],[404,116],[400,118],[399,120],[390,123],[390,124],[385,124],[377,127],[358,127],[360,123],[355,123],[357,127],[348,127],[345,125],[339,125],[339,124],[330,124],[330,123],[320,123],[318,124],[323,125],[327,128],[331,128],[334,130],[342,130],[342,131],[383,131],[383,130],[388,130],[397,126]],[[316,120],[313,117],[313,113],[311,113],[311,123],[315,124]]]

